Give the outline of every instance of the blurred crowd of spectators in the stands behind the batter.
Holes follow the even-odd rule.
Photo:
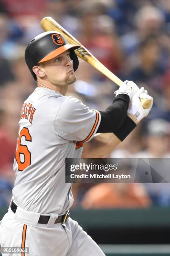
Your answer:
[[[24,53],[51,16],[153,109],[107,158],[170,158],[170,0],[0,0],[0,207],[8,206],[23,101],[36,87]],[[105,110],[117,86],[80,59],[67,95]],[[170,184],[74,184],[73,207],[170,206]]]

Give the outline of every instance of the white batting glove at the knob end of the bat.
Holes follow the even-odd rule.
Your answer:
[[[147,93],[148,92],[144,90],[144,87],[141,87],[140,90],[135,93],[135,95],[133,96],[129,104],[128,114],[134,115],[137,118],[138,123],[140,122],[140,120],[142,120],[144,117],[146,117],[149,114],[153,106],[153,97],[151,97]],[[144,109],[140,101],[140,98],[150,99],[151,100],[150,108]]]

